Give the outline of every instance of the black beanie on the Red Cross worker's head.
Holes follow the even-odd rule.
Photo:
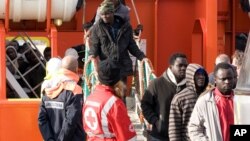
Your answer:
[[[98,79],[104,85],[115,85],[121,79],[118,63],[111,59],[99,62]]]

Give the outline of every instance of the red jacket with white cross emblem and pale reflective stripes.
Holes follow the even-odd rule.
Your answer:
[[[134,127],[121,99],[112,88],[97,85],[83,106],[83,125],[88,141],[136,140]]]

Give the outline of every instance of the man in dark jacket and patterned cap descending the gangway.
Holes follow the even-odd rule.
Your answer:
[[[107,58],[117,61],[121,69],[121,80],[127,84],[127,76],[133,75],[132,60],[129,53],[138,60],[145,54],[133,39],[133,30],[128,21],[114,15],[114,4],[104,1],[100,7],[101,19],[93,25],[90,34],[90,57]]]

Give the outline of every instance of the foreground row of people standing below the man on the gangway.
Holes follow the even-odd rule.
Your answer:
[[[141,108],[152,124],[148,140],[229,141],[235,67],[228,62],[217,64],[214,84],[210,84],[205,68],[187,60],[185,54],[174,53],[169,67],[144,93]],[[43,82],[39,112],[44,140],[136,140],[122,101],[126,87],[120,85],[124,82],[118,61],[99,62],[99,83],[85,101],[74,55],[51,58],[47,66],[52,77]]]

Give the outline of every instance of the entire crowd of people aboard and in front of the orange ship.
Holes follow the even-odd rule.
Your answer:
[[[51,58],[51,48],[46,48],[45,70],[36,65],[41,57],[38,51],[24,48],[28,43],[7,43],[6,64],[15,78],[33,71],[32,76],[39,77],[27,75],[26,80],[32,87],[42,82],[37,89],[41,97],[38,123],[45,141],[136,140],[124,102],[127,77],[133,74],[129,53],[138,60],[147,58],[134,41],[129,20],[129,8],[120,0],[104,0],[98,7],[88,27],[88,54],[98,59],[99,83],[87,99],[83,99],[78,71],[83,66],[77,48],[67,49],[63,58]],[[84,45],[79,47],[82,51]],[[233,89],[243,57],[243,51],[236,50],[231,63],[228,55],[219,54],[214,71],[208,74],[200,64],[189,63],[185,54],[173,53],[169,66],[150,82],[141,99],[143,116],[152,125],[147,140],[229,141],[234,124]],[[33,66],[36,69],[29,70]],[[15,97],[7,86],[7,96]]]

